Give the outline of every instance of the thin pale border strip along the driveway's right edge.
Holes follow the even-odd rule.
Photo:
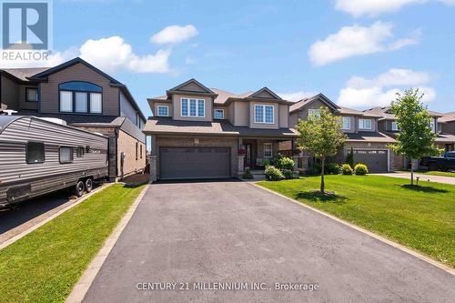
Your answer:
[[[247,183],[248,183],[248,182],[247,182]],[[312,211],[314,211],[314,212],[317,212],[318,214],[320,214],[320,215],[322,215],[322,216],[329,217],[329,218],[331,218],[331,219],[333,219],[333,220],[335,220],[335,221],[337,221],[337,222],[339,222],[339,223],[341,223],[341,224],[343,224],[343,225],[345,225],[345,226],[348,226],[348,227],[351,227],[351,228],[353,228],[353,229],[356,229],[357,231],[359,231],[359,232],[361,232],[361,233],[364,233],[364,234],[368,235],[369,237],[374,237],[375,239],[377,239],[377,240],[379,240],[379,241],[381,241],[381,242],[384,242],[384,243],[388,244],[388,245],[391,246],[391,247],[398,248],[399,250],[401,250],[401,251],[403,251],[403,252],[406,252],[406,253],[408,253],[408,254],[410,254],[410,255],[416,257],[416,258],[420,258],[422,261],[425,261],[425,262],[427,262],[427,263],[430,263],[431,265],[433,265],[433,266],[435,266],[435,267],[437,267],[437,268],[440,268],[440,269],[442,269],[442,270],[444,270],[444,271],[450,273],[450,275],[455,276],[455,269],[450,268],[450,267],[448,267],[448,266],[446,266],[446,265],[444,265],[444,264],[442,264],[442,263],[440,263],[440,262],[438,262],[438,261],[435,261],[435,260],[433,260],[432,258],[429,258],[429,257],[426,257],[426,256],[424,256],[424,255],[421,255],[419,252],[417,252],[417,251],[415,251],[415,250],[412,250],[412,249],[410,249],[409,247],[404,247],[404,246],[402,246],[402,245],[400,245],[400,244],[398,244],[398,243],[396,243],[396,242],[393,242],[393,241],[391,241],[391,240],[389,240],[389,239],[387,239],[387,238],[385,238],[385,237],[381,237],[381,236],[379,236],[379,235],[377,235],[377,234],[375,234],[375,233],[372,233],[372,232],[370,232],[370,231],[367,230],[367,229],[364,229],[364,228],[362,228],[362,227],[358,227],[358,226],[356,226],[356,225],[353,225],[353,224],[349,223],[348,221],[344,221],[344,220],[340,219],[339,217],[335,217],[335,216],[329,215],[329,214],[326,213],[326,212],[323,212],[323,211],[321,211],[321,210],[319,210],[319,209],[317,209],[317,208],[314,208],[314,207],[310,207],[310,206],[306,205],[305,203],[299,202],[298,200],[295,200],[295,199],[293,199],[293,198],[290,198],[290,197],[286,197],[286,196],[284,196],[284,195],[281,195],[281,194],[279,194],[279,193],[277,193],[277,192],[275,192],[275,191],[273,191],[273,190],[271,190],[271,189],[268,189],[268,188],[266,188],[266,187],[261,187],[261,186],[259,186],[259,185],[256,184],[256,183],[248,183],[248,184],[251,185],[251,186],[258,187],[258,188],[261,188],[261,189],[263,189],[263,190],[266,190],[266,191],[268,191],[269,193],[275,194],[275,195],[277,195],[277,196],[279,196],[279,197],[284,197],[284,198],[287,199],[288,201],[297,203],[297,204],[298,204],[299,206],[301,206],[301,207],[306,207],[306,208],[308,208],[308,209],[310,209],[310,210],[312,210]]]

